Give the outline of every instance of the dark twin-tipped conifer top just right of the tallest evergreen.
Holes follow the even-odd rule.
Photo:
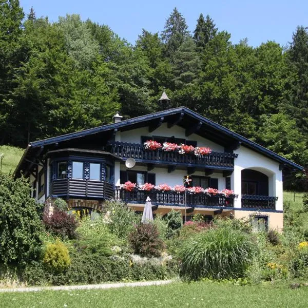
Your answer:
[[[218,29],[215,28],[214,21],[209,17],[209,15],[206,15],[205,21],[204,16],[201,13],[194,31],[194,40],[197,48],[202,50],[210,40],[213,40],[217,30]]]

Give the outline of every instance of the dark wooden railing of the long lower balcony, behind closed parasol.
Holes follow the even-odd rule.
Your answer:
[[[115,194],[116,198],[127,202],[127,203],[140,203],[145,204],[147,197],[150,197],[151,203],[154,205],[173,205],[173,206],[184,206],[185,205],[185,192],[175,191],[144,191],[144,190],[133,190],[125,191],[117,187]],[[187,206],[189,207],[202,207],[202,206],[215,206],[215,207],[233,207],[235,195],[225,197],[225,195],[217,194],[210,196],[207,194],[188,194],[186,195]]]

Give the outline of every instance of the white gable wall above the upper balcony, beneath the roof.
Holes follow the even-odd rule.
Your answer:
[[[120,136],[121,134],[121,136]],[[171,137],[183,138],[186,140],[197,141],[198,146],[210,147],[213,151],[223,152],[224,148],[221,145],[214,143],[208,139],[205,139],[199,136],[196,133],[191,134],[189,137],[185,137],[185,129],[175,125],[174,127],[168,128],[167,123],[163,123],[156,130],[149,132],[148,126],[142,128],[136,128],[128,131],[117,132],[116,141],[130,142],[130,143],[139,143],[141,142],[141,136],[162,136],[162,137]]]

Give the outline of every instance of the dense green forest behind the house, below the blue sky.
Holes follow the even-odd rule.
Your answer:
[[[135,44],[79,15],[57,22],[0,0],[0,145],[30,141],[186,106],[303,166],[308,165],[308,32],[287,47],[230,41],[200,14],[190,33],[175,8],[164,30]],[[304,189],[304,174],[287,188]]]

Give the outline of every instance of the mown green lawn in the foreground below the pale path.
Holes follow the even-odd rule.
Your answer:
[[[308,287],[235,286],[210,282],[110,290],[0,294],[1,307],[296,307],[308,306]]]

